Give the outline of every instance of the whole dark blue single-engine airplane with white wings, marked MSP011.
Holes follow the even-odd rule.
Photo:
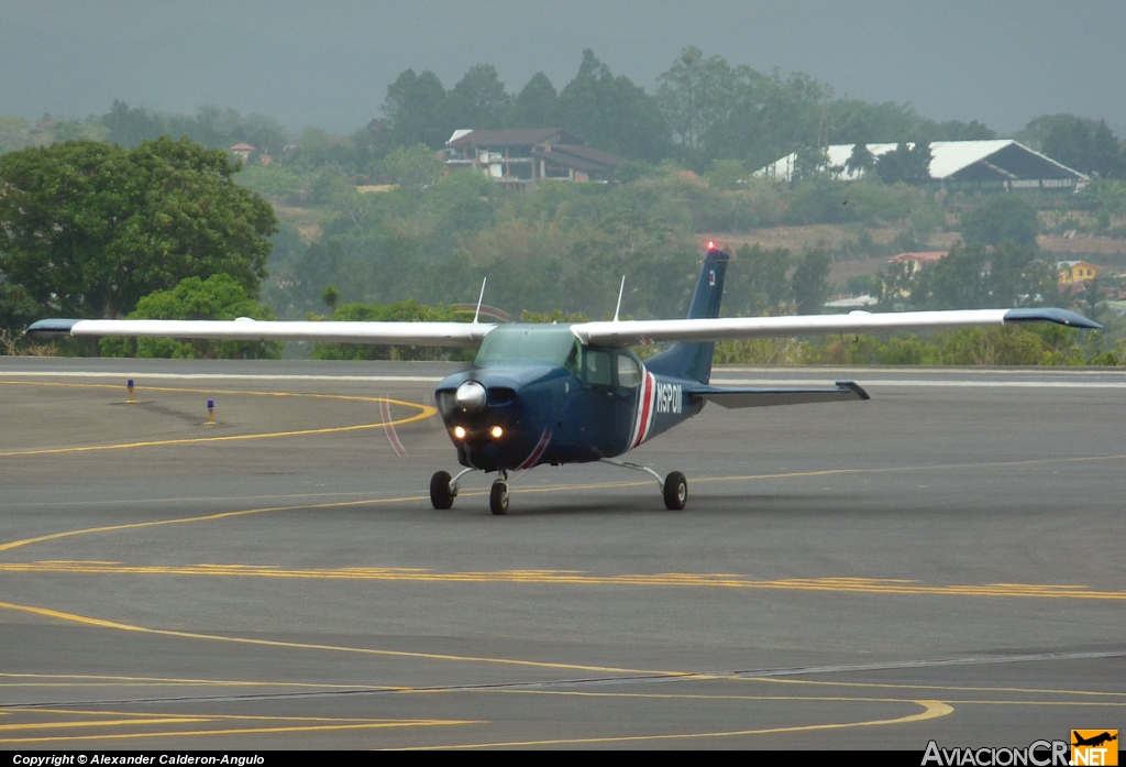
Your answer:
[[[688,482],[664,479],[649,466],[618,460],[638,445],[698,413],[707,402],[724,408],[867,400],[851,381],[832,387],[716,387],[709,384],[715,341],[801,335],[966,328],[1054,322],[1100,324],[1062,309],[988,309],[942,312],[851,312],[804,316],[721,318],[729,256],[708,243],[688,316],[683,320],[574,324],[480,322],[275,322],[209,320],[41,320],[32,337],[137,336],[268,341],[322,341],[411,346],[480,346],[468,369],[447,376],[435,391],[443,422],[464,470],[439,471],[430,500],[448,509],[463,476],[495,472],[489,508],[508,511],[509,479],[539,464],[602,461],[654,476],[669,509],[682,509]],[[484,287],[482,286],[482,296]],[[479,313],[481,302],[479,301]],[[645,362],[629,347],[674,344]]]

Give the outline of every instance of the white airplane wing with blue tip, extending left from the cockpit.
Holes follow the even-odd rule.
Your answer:
[[[276,322],[239,320],[39,320],[32,338],[137,336],[238,341],[322,341],[403,346],[476,346],[494,324],[483,322]]]

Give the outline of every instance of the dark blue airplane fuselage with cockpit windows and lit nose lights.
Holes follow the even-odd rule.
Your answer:
[[[691,382],[647,371],[628,348],[584,346],[557,325],[508,325],[493,336],[473,368],[435,392],[464,466],[520,471],[609,458],[703,407],[688,395]],[[524,358],[490,359],[490,346],[498,357]]]

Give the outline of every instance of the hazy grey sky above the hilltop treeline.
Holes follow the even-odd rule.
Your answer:
[[[404,69],[447,88],[476,63],[556,88],[583,48],[652,91],[677,53],[808,72],[1001,132],[1057,112],[1126,135],[1126,2],[1042,0],[0,0],[0,115],[234,107],[350,132]]]

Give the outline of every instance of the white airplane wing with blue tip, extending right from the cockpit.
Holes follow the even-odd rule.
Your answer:
[[[584,344],[631,346],[652,341],[722,341],[727,339],[835,333],[883,332],[888,330],[935,330],[981,325],[1054,322],[1071,328],[1099,330],[1081,314],[1064,309],[976,309],[948,312],[850,312],[797,316],[743,316],[698,320],[629,320],[582,322],[571,330]]]

